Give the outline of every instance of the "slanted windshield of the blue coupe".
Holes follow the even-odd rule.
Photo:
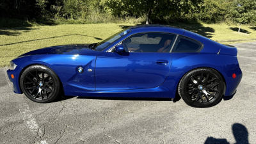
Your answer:
[[[122,31],[119,31],[118,33],[115,33],[114,35],[110,36],[106,40],[102,40],[102,42],[99,42],[96,47],[95,51],[103,51],[106,49],[109,45],[111,45],[113,42],[118,40],[119,38],[122,38],[127,33],[130,33],[130,29],[124,29]]]

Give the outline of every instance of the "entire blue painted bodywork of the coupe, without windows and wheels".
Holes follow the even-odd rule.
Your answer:
[[[136,33],[173,33],[193,38],[204,45],[200,52],[108,52],[122,40]],[[220,51],[220,53],[218,53]],[[63,84],[65,95],[95,97],[165,97],[174,98],[184,74],[199,67],[214,68],[225,82],[225,95],[232,95],[241,81],[236,47],[228,47],[204,36],[170,26],[147,25],[130,28],[103,51],[88,45],[47,47],[22,54],[7,70],[13,91],[20,90],[20,74],[29,65],[51,68]],[[83,68],[83,73],[78,68]],[[11,75],[14,75],[12,79]],[[236,74],[236,78],[232,77]]]

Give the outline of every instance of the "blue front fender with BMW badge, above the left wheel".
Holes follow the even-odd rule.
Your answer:
[[[51,68],[60,78],[63,86],[67,84],[84,86],[89,90],[95,90],[94,67],[96,56],[70,55],[70,54],[42,54],[35,56],[25,56],[13,60],[13,63],[21,69],[26,69],[30,65],[45,65]],[[83,74],[77,72],[77,67],[83,67]],[[87,69],[93,71],[88,73]],[[19,77],[23,70],[20,70]],[[86,70],[86,71],[85,71]],[[86,83],[85,83],[86,82]],[[17,82],[17,88],[19,83]],[[17,90],[20,93],[20,90]]]

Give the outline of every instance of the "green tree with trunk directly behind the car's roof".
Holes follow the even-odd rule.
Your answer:
[[[146,24],[150,19],[163,19],[167,15],[188,13],[191,6],[198,6],[202,0],[102,0],[113,15],[133,15],[141,17],[146,15]]]

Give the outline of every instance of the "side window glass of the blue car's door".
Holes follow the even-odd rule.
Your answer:
[[[129,52],[170,52],[176,35],[167,33],[140,33],[122,42]]]

